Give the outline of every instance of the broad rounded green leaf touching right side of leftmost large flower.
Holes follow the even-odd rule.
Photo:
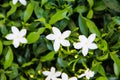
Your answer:
[[[39,39],[40,35],[37,32],[31,32],[27,36],[28,44],[35,43]]]

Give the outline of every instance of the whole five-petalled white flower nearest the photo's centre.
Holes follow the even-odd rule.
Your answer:
[[[70,46],[70,42],[68,40],[65,40],[65,38],[69,37],[71,31],[67,30],[63,33],[60,32],[60,30],[56,27],[52,28],[52,31],[54,34],[49,34],[46,36],[49,40],[54,40],[54,50],[58,51],[60,48],[60,44],[63,46]]]

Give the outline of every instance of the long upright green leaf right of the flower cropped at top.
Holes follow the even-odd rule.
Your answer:
[[[29,20],[29,18],[31,17],[33,13],[33,9],[34,9],[34,4],[29,3],[27,6],[27,9],[24,12],[24,17],[23,17],[24,22],[27,22]]]

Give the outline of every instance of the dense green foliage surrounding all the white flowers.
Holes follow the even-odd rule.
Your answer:
[[[27,44],[14,48],[5,38],[12,26],[27,29]],[[71,31],[70,47],[54,51],[53,42],[46,39],[53,26]],[[83,56],[73,43],[79,35],[92,33],[98,48]],[[45,80],[42,72],[52,66],[70,77],[89,68],[95,72],[92,80],[119,79],[120,1],[27,0],[24,6],[0,0],[0,80]]]

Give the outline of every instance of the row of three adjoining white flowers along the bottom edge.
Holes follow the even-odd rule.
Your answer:
[[[84,76],[86,77],[86,79],[89,80],[91,77],[94,76],[94,72],[87,69],[85,73],[79,75],[78,78],[77,77],[69,78],[68,75],[64,72],[63,73],[60,71],[55,72],[54,67],[51,67],[50,71],[43,71],[43,74],[47,76],[45,80],[77,80],[78,78],[82,78]]]

